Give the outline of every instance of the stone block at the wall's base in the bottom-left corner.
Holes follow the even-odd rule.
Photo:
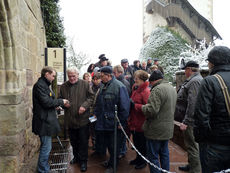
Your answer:
[[[0,172],[1,173],[18,173],[19,162],[17,156],[0,156]]]

